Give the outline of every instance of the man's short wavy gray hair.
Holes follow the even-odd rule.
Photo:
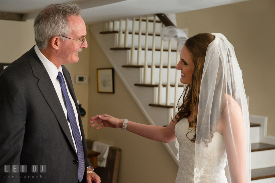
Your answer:
[[[82,11],[75,3],[51,4],[40,11],[34,20],[34,36],[38,48],[44,50],[54,36],[70,35],[71,27],[68,17],[81,15]]]

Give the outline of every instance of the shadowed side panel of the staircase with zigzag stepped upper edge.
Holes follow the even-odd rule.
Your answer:
[[[104,23],[90,25],[89,29],[148,122],[151,125],[168,125],[171,121],[171,109],[152,107],[148,105],[149,103],[154,103],[154,93],[156,92],[156,88],[134,86],[135,83],[140,82],[142,69],[122,67],[122,65],[129,63],[130,51],[110,50],[110,48],[115,47],[116,36],[114,34],[99,34],[99,32],[104,30]],[[177,149],[174,141],[163,144],[176,164],[179,165],[179,161],[176,159]]]

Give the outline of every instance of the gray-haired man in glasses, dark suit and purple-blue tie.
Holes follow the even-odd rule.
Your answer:
[[[100,183],[64,67],[88,46],[80,15],[74,3],[42,9],[34,21],[36,45],[0,75],[1,182]]]

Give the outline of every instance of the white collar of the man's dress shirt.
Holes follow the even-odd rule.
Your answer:
[[[37,45],[34,46],[34,51],[36,52],[38,58],[41,60],[44,67],[46,68],[52,82],[56,80],[58,72],[61,72],[63,75],[62,66],[59,66],[59,68],[57,69],[56,66],[42,54]]]

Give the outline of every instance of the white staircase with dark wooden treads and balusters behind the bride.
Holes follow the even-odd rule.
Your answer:
[[[175,69],[180,60],[177,42],[160,38],[160,29],[168,25],[173,23],[166,15],[156,14],[90,26],[149,123],[158,126],[171,121],[184,86]],[[252,183],[274,183],[275,137],[266,139],[267,117],[250,115],[250,122]],[[178,164],[174,142],[164,145]]]

